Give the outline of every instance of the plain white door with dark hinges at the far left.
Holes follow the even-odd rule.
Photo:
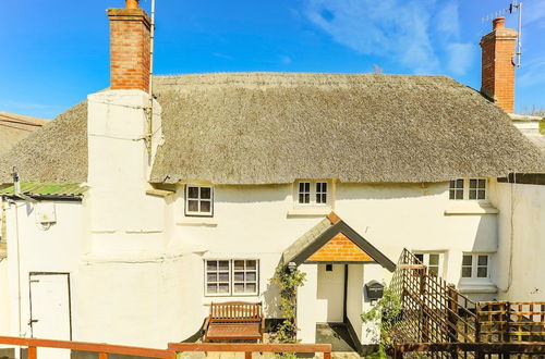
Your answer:
[[[31,273],[32,336],[40,339],[71,339],[70,275]],[[38,348],[40,359],[69,359],[70,350]]]

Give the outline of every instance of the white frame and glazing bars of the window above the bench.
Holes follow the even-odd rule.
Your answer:
[[[219,273],[219,262],[220,261],[229,262],[229,282],[228,282],[229,290],[228,290],[228,293],[208,293],[208,284],[218,284],[218,288],[219,288],[219,283],[223,283],[223,282],[219,282],[219,281],[213,281],[211,283],[208,282],[208,274],[211,274],[211,271],[210,272],[208,271],[208,262],[218,262],[216,273]],[[244,261],[244,269],[243,270],[235,270],[234,269],[235,261]],[[246,269],[247,261],[255,261],[256,269],[255,270]],[[234,292],[234,284],[244,283],[246,285],[247,283],[245,281],[235,283],[234,272],[244,272],[244,276],[246,273],[254,272],[255,273],[255,292],[235,293]],[[255,297],[255,296],[258,296],[259,295],[259,277],[261,277],[261,275],[259,275],[259,260],[258,259],[254,259],[254,258],[238,258],[238,259],[210,258],[210,259],[204,260],[204,294],[206,297]],[[218,277],[218,280],[219,280],[219,277]],[[251,283],[254,283],[254,282],[251,282]],[[245,285],[244,285],[244,288],[245,288]]]

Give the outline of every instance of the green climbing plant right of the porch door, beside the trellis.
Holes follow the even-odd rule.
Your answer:
[[[362,313],[364,323],[376,325],[376,330],[371,327],[367,333],[373,335],[373,339],[378,344],[378,351],[368,356],[371,358],[388,358],[387,351],[392,348],[392,332],[401,313],[401,299],[391,288],[385,286],[383,298],[370,310]]]

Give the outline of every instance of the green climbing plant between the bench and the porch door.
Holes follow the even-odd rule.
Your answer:
[[[296,305],[298,287],[302,286],[306,273],[299,269],[289,270],[280,263],[270,282],[278,285],[280,289],[280,314],[283,318],[282,323],[276,331],[276,339],[280,343],[296,343]]]

